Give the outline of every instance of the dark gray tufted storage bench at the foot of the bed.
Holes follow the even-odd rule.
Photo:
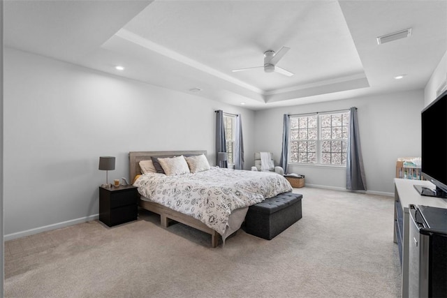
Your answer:
[[[273,239],[302,218],[302,195],[281,193],[249,207],[245,232],[263,239]]]

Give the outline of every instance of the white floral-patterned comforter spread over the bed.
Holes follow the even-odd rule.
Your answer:
[[[140,195],[205,223],[223,235],[231,211],[292,191],[274,172],[211,167],[195,174],[142,174],[133,184]]]

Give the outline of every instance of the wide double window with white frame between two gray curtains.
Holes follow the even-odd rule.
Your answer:
[[[291,163],[346,165],[349,112],[291,117]]]

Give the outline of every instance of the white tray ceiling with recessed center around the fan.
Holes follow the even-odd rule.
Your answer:
[[[422,89],[447,50],[447,1],[5,1],[4,14],[8,47],[253,110]],[[282,46],[292,77],[231,71]]]

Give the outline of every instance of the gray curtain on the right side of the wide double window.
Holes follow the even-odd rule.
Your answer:
[[[365,170],[360,149],[357,107],[349,109],[348,152],[346,158],[346,188],[351,191],[366,191]]]

